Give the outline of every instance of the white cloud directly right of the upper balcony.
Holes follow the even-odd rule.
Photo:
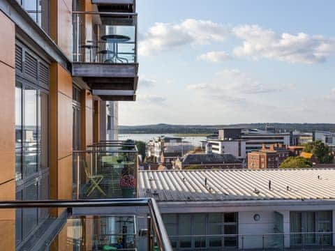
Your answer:
[[[188,19],[179,24],[158,22],[142,36],[139,54],[148,56],[183,45],[220,42],[225,40],[229,32],[222,24],[205,20]]]

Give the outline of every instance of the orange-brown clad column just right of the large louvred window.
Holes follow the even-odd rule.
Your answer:
[[[52,63],[50,73],[50,199],[71,199],[72,77],[59,63]]]

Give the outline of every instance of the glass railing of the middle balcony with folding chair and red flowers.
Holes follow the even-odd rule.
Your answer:
[[[133,141],[99,142],[74,151],[73,197],[137,197],[137,156]]]

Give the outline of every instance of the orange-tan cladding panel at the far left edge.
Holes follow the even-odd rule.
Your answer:
[[[0,11],[0,200],[15,200],[15,24]],[[15,210],[0,210],[1,250],[15,250]]]

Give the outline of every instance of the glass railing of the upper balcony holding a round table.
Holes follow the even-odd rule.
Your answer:
[[[73,62],[136,63],[135,13],[73,12]]]

